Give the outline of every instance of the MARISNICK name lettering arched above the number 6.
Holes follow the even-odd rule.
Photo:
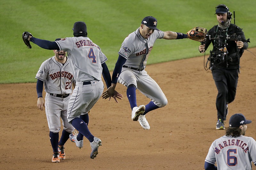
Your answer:
[[[214,152],[216,152],[217,154],[219,154],[220,150],[223,149],[226,146],[234,146],[234,145],[238,146],[241,149],[243,149],[245,153],[247,153],[247,151],[249,150],[247,144],[244,143],[244,141],[241,141],[241,140],[238,140],[238,139],[232,139],[231,141],[230,141],[230,139],[226,140],[226,141],[222,141],[222,143],[220,143],[218,145],[219,145],[219,148],[215,147],[215,149],[214,149]]]

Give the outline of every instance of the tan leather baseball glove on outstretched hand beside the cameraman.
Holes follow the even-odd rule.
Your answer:
[[[205,36],[207,33],[208,32],[206,28],[196,26],[195,28],[189,30],[187,35],[188,35],[188,38],[191,40],[202,42],[202,41],[205,41]]]

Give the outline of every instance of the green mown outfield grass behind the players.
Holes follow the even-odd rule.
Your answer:
[[[24,31],[36,38],[54,41],[72,37],[74,22],[84,21],[88,37],[100,46],[108,57],[109,70],[113,70],[121,43],[140,26],[145,16],[157,18],[157,27],[162,31],[187,33],[195,26],[209,30],[217,24],[215,6],[221,3],[232,13],[236,11],[236,25],[250,38],[249,48],[255,47],[255,0],[1,0],[0,84],[36,82],[41,63],[53,56],[52,50],[33,43],[32,49],[26,48],[21,38]],[[198,46],[198,42],[189,39],[157,40],[148,64],[199,56]]]

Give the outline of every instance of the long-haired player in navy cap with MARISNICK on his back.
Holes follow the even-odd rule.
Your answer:
[[[244,136],[246,124],[251,122],[243,114],[230,117],[226,135],[216,139],[209,149],[204,162],[206,170],[252,170],[252,164],[256,166],[256,142],[252,137]]]

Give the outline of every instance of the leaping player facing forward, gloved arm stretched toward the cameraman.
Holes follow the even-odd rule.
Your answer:
[[[175,40],[188,38],[187,34],[172,31],[160,31],[156,28],[157,20],[152,16],[142,19],[140,27],[129,34],[118,52],[119,57],[112,75],[112,85],[102,98],[113,94],[117,81],[127,87],[127,97],[132,109],[132,120],[140,122],[143,129],[150,129],[145,115],[167,105],[167,99],[159,85],[145,71],[148,56],[157,39]],[[136,89],[151,101],[145,106],[137,106]]]

